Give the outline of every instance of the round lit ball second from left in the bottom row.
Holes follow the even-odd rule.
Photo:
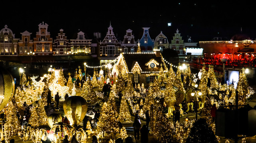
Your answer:
[[[34,129],[31,128],[30,126],[22,126],[19,131],[18,131],[18,137],[22,140],[22,141],[30,141],[31,135],[33,133]]]

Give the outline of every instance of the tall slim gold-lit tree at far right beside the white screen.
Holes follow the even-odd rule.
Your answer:
[[[236,89],[238,91],[238,105],[246,104],[246,94],[248,94],[248,81],[246,77],[245,69],[242,68],[239,73],[239,79],[237,82]]]

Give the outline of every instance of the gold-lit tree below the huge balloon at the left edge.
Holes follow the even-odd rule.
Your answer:
[[[13,135],[18,135],[18,130],[20,129],[20,120],[17,116],[18,106],[15,102],[15,97],[8,102],[6,105],[5,115],[6,121],[12,125]],[[22,117],[20,117],[22,118]]]

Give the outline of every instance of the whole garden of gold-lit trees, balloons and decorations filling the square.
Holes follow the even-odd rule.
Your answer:
[[[191,73],[189,64],[173,66],[163,58],[160,59],[161,62],[150,58],[144,65],[135,62],[133,68],[129,68],[122,56],[121,54],[116,65],[107,65],[105,70],[103,67],[86,65],[85,70],[94,68],[92,77],[83,77],[85,71],[80,67],[74,71],[73,76],[70,73],[64,75],[63,69],[50,69],[43,77],[39,77],[39,81],[36,80],[38,76],[27,77],[22,73],[22,82],[16,87],[15,92],[13,79],[4,79],[4,82],[0,83],[0,88],[4,86],[8,91],[0,91],[0,100],[3,100],[0,109],[1,113],[5,114],[5,118],[1,120],[1,124],[5,125],[5,128],[0,130],[3,134],[1,137],[4,137],[1,140],[7,140],[14,135],[18,135],[22,141],[32,140],[34,143],[40,143],[41,139],[46,140],[46,137],[50,137],[53,143],[62,143],[65,135],[69,136],[69,141],[75,136],[78,142],[89,142],[93,135],[97,136],[100,143],[115,142],[118,138],[125,140],[128,137],[127,131],[119,123],[133,123],[132,116],[136,112],[141,120],[145,120],[145,112],[148,110],[151,117],[150,133],[156,140],[183,143],[187,139],[200,139],[194,135],[194,130],[200,124],[209,133],[215,132],[215,124],[211,122],[210,114],[213,104],[216,104],[217,108],[220,104],[235,104],[235,94],[238,91],[238,104],[244,105],[254,94],[248,85],[244,69],[239,72],[235,88],[234,85],[219,83],[213,66],[203,65],[200,73]],[[151,65],[152,63],[155,65]],[[145,72],[142,66],[157,66],[159,71]],[[6,74],[4,72],[2,74]],[[134,78],[131,75],[135,74],[154,78],[149,83],[133,83]],[[80,87],[73,81],[78,78],[85,79]],[[102,88],[107,80],[113,84],[109,97],[104,97]],[[195,89],[202,94],[192,96],[191,93]],[[63,104],[59,105],[61,107],[58,110],[53,110],[54,113],[48,114],[45,109],[51,106],[54,108],[54,96],[57,92]],[[47,101],[48,93],[52,99],[50,105]],[[117,108],[115,99],[119,99],[120,108]],[[193,102],[194,100],[197,102]],[[16,116],[19,109],[23,112],[24,102],[29,105],[28,119],[21,113],[19,117]],[[92,125],[89,121],[83,123],[87,108],[92,106],[99,109],[97,124]],[[174,111],[179,110],[182,117],[195,108],[201,112],[200,117],[204,121],[190,119],[184,123],[173,122]],[[60,114],[61,110],[64,114]],[[166,112],[163,112],[164,110]],[[69,124],[64,123],[62,118],[67,118]],[[27,120],[27,124],[21,124],[20,119]],[[216,135],[213,138],[219,140]]]

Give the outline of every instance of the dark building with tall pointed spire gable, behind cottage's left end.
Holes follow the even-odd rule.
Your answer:
[[[103,39],[103,41],[99,42],[99,60],[100,65],[105,65],[111,63],[115,64],[117,56],[123,50],[121,49],[121,42],[117,40],[114,35],[113,27],[111,23],[108,27],[107,35]]]

